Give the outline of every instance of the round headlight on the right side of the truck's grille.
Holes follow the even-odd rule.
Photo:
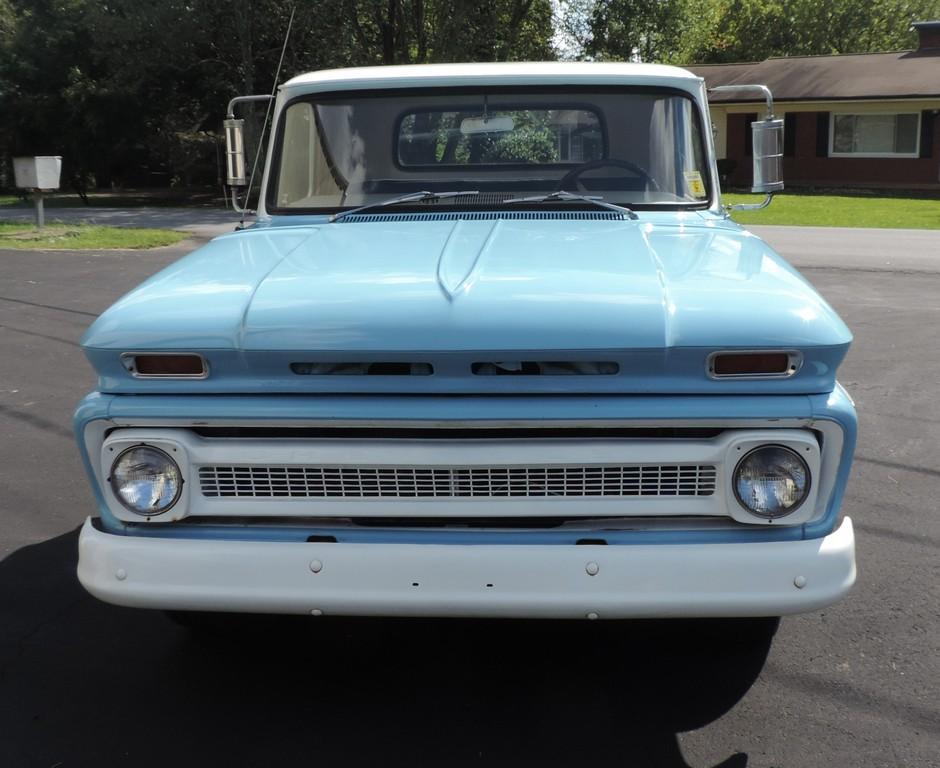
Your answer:
[[[783,517],[806,499],[810,472],[796,451],[764,445],[738,462],[733,482],[734,495],[749,512],[766,518]]]

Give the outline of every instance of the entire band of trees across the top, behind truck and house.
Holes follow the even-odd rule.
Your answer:
[[[567,58],[677,64],[900,50],[940,0],[296,0],[281,79],[329,67]],[[228,100],[270,92],[285,0],[0,0],[0,169],[213,181]],[[554,16],[553,16],[554,11]],[[263,114],[263,109],[258,110]],[[0,185],[3,172],[0,170]]]

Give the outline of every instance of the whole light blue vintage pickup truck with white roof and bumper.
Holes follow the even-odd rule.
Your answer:
[[[234,185],[250,98],[226,121]],[[285,83],[272,114],[257,223],[84,337],[92,594],[604,619],[850,589],[852,337],[721,207],[700,78],[336,70]]]

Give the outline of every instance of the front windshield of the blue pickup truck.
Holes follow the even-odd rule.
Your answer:
[[[272,212],[422,191],[477,192],[447,199],[462,208],[559,190],[640,208],[703,207],[710,196],[698,110],[667,89],[315,94],[287,106],[278,137]]]

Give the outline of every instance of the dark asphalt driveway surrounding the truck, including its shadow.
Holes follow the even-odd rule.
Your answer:
[[[937,766],[938,249],[870,271],[798,246],[856,334],[860,575],[749,652],[638,622],[272,620],[199,643],[94,601],[74,578],[77,339],[183,249],[0,252],[0,766]]]

